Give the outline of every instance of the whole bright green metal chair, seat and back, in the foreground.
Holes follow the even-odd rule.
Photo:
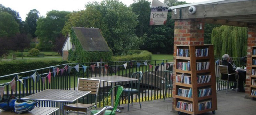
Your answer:
[[[108,102],[108,97],[110,96],[112,90],[113,90],[114,88],[116,88],[116,87],[117,87],[117,91],[116,91],[117,93],[116,93],[116,100],[115,100],[114,107],[113,107],[112,110],[106,110],[106,111],[105,111],[105,115],[116,115],[116,109],[117,109],[117,106],[118,106],[118,104],[119,104],[119,102],[120,102],[120,97],[121,97],[121,94],[122,94],[123,89],[124,89],[123,86],[118,86],[118,85],[117,85],[117,86],[111,88],[110,91],[109,91],[109,93],[108,93],[106,102],[105,102],[105,104],[104,104],[104,107],[105,107],[106,104],[107,104],[107,102]],[[94,115],[94,114],[98,113],[99,111],[100,111],[100,110],[92,110],[92,111],[91,111],[91,115]]]

